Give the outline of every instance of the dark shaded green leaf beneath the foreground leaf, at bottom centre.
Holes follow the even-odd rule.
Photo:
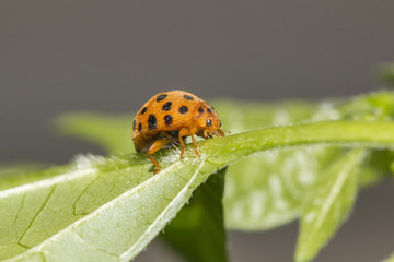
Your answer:
[[[162,235],[187,261],[227,261],[222,206],[225,169],[211,175],[198,187],[188,205]]]

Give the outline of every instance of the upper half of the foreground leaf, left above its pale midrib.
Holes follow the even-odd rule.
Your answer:
[[[38,245],[149,178],[140,167],[143,163],[148,168],[146,159],[137,157],[106,160],[88,156],[79,157],[71,167],[24,174],[19,180],[1,179],[0,259]]]

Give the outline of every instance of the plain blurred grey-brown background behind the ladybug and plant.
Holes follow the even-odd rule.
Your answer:
[[[103,153],[54,135],[48,121],[61,112],[128,112],[172,88],[207,99],[349,96],[381,88],[374,70],[389,61],[393,0],[2,0],[0,164]],[[393,252],[393,196],[391,181],[362,192],[316,261]],[[291,261],[297,230],[231,233],[233,261]],[[181,260],[154,241],[136,261]]]

